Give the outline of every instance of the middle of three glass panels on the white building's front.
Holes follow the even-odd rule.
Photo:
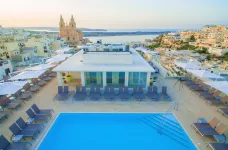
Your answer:
[[[106,72],[107,86],[124,86],[125,72]]]

